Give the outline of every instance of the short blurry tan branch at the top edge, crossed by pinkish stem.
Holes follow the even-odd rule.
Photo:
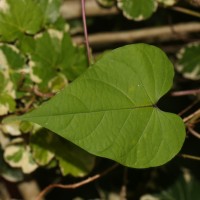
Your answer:
[[[87,0],[85,3],[87,16],[105,16],[118,14],[116,7],[104,8],[98,5],[95,0]],[[61,14],[65,19],[81,17],[81,5],[79,0],[65,1],[61,7]]]

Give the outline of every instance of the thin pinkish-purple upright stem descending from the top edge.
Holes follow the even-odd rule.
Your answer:
[[[89,40],[88,40],[86,12],[85,12],[85,0],[81,0],[81,8],[82,8],[82,20],[83,20],[85,45],[86,45],[86,49],[87,49],[88,63],[90,65],[90,64],[93,64],[93,57],[92,57],[92,54],[91,54],[91,51],[90,51],[90,45],[89,45]]]

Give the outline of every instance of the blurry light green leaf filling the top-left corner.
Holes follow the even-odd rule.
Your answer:
[[[34,0],[1,0],[1,40],[14,41],[23,34],[37,33],[44,22],[45,13]]]

